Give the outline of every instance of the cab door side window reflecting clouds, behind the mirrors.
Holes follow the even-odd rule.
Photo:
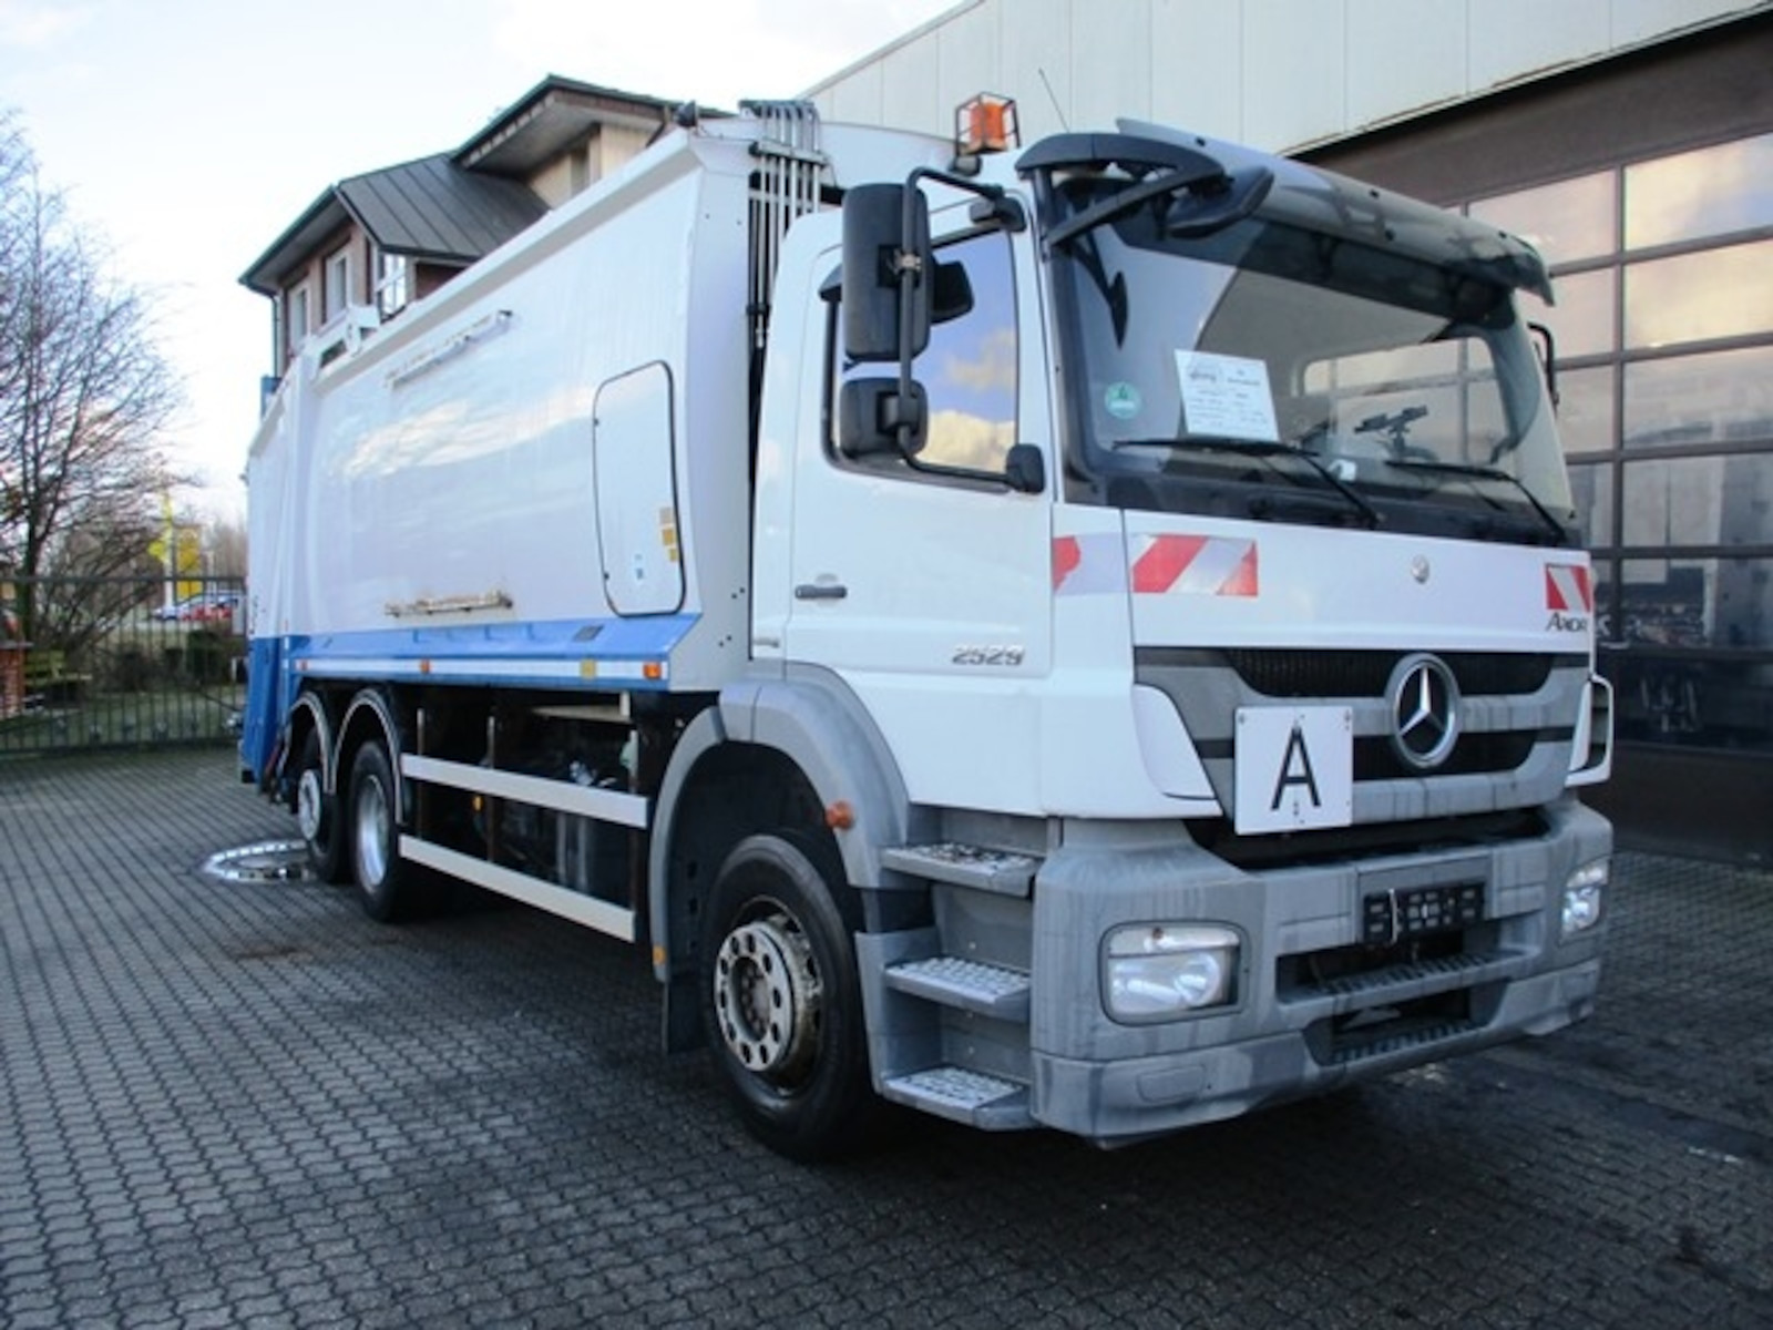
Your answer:
[[[1009,238],[1000,231],[980,232],[936,248],[943,264],[959,264],[966,275],[963,309],[938,310],[929,346],[911,364],[911,376],[929,403],[929,426],[920,466],[949,466],[1002,473],[1016,442],[1016,289],[1011,273]],[[846,458],[837,447],[837,401],[842,385],[878,378],[890,365],[856,365],[844,360],[842,310],[832,303],[828,321],[830,392],[826,395],[826,449],[842,466],[895,475],[918,475],[899,452]]]

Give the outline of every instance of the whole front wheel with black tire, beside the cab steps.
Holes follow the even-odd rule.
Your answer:
[[[849,927],[810,844],[741,841],[709,894],[702,1018],[715,1068],[746,1130],[793,1160],[869,1142],[862,986]]]

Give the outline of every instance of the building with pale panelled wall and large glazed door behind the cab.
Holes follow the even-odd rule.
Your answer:
[[[1303,156],[1532,238],[1596,559],[1624,844],[1773,860],[1773,5],[973,0],[812,90],[1023,142],[1117,117]]]

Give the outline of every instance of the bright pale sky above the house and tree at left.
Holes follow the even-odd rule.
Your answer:
[[[0,108],[44,184],[156,296],[174,454],[245,511],[269,301],[238,278],[323,188],[454,149],[546,74],[734,108],[954,0],[0,0]]]

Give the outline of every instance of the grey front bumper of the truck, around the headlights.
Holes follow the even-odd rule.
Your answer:
[[[1195,846],[1067,844],[1035,890],[1030,1115],[1128,1142],[1578,1021],[1594,1009],[1605,919],[1560,940],[1562,885],[1610,851],[1612,828],[1574,800],[1528,841],[1261,874]],[[1374,892],[1472,881],[1484,917],[1456,942],[1347,968]],[[1092,943],[1163,920],[1243,936],[1239,998],[1183,1020],[1115,1021]],[[1342,970],[1319,975],[1332,958]]]

